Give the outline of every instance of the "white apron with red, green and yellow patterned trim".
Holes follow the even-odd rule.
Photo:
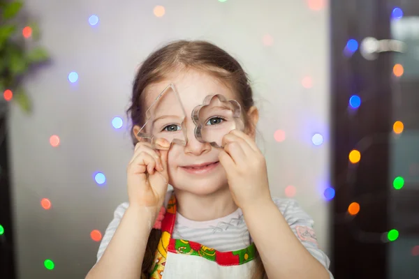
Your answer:
[[[249,278],[256,252],[254,243],[242,250],[219,252],[193,241],[172,239],[176,209],[176,198],[172,195],[161,223],[162,234],[150,278]]]

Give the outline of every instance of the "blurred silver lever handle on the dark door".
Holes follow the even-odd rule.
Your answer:
[[[367,60],[375,60],[381,52],[399,52],[406,51],[406,43],[401,40],[377,40],[373,37],[367,37],[362,40],[360,46],[361,55]]]

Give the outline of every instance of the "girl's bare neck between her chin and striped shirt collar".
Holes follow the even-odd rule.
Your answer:
[[[175,194],[177,211],[189,220],[214,220],[237,210],[228,186],[210,195],[195,195],[182,190],[175,190]]]

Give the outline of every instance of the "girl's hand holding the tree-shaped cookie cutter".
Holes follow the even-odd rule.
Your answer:
[[[170,146],[163,142],[162,145]],[[128,199],[131,205],[152,207],[159,212],[168,190],[168,151],[139,142],[127,167]]]

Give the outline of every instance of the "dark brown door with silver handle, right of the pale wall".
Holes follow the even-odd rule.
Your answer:
[[[419,1],[331,1],[332,269],[419,278]]]

